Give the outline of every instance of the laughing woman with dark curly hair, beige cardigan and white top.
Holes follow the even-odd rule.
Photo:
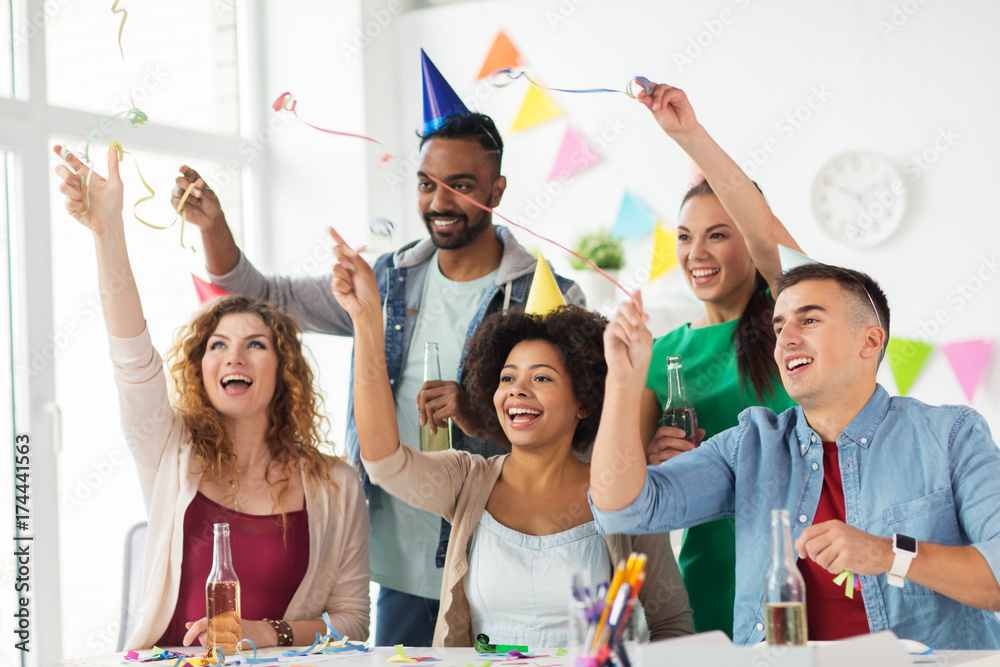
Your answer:
[[[485,319],[469,340],[465,388],[498,419],[510,454],[421,452],[399,440],[372,269],[334,233],[332,289],[354,323],[354,415],[372,482],[452,525],[435,646],[565,646],[571,577],[592,586],[632,551],[649,557],[640,637],[693,629],[669,535],[602,536],[581,459],[600,422],[607,320],[575,306]]]

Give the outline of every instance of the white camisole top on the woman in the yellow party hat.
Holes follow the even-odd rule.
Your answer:
[[[472,636],[491,644],[566,646],[571,580],[611,578],[611,554],[593,521],[554,535],[525,535],[484,511],[469,544],[465,595]]]

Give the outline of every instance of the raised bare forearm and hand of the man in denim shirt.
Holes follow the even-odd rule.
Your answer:
[[[608,378],[590,459],[591,501],[604,512],[630,505],[646,483],[639,415],[653,346],[646,317],[642,295],[636,291],[634,301],[622,304],[604,330]]]

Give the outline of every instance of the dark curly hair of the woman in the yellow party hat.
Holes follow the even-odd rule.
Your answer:
[[[547,315],[528,315],[508,310],[490,315],[469,339],[465,353],[463,385],[473,406],[487,418],[496,418],[493,394],[507,355],[518,343],[541,340],[554,345],[569,373],[573,393],[587,416],[577,424],[573,448],[584,451],[601,422],[604,380],[608,365],[604,360],[603,315],[579,306],[560,306]]]

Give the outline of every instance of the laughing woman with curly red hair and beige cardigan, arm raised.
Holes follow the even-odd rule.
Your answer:
[[[59,146],[56,153],[62,154]],[[124,435],[149,519],[145,606],[132,648],[206,643],[213,524],[228,523],[241,637],[310,644],[334,628],[368,636],[368,513],[354,471],[323,454],[322,399],[300,330],[264,302],[205,307],[164,363],[150,341],[125,247],[117,155],[108,179],[59,165],[66,210],[94,236]]]

